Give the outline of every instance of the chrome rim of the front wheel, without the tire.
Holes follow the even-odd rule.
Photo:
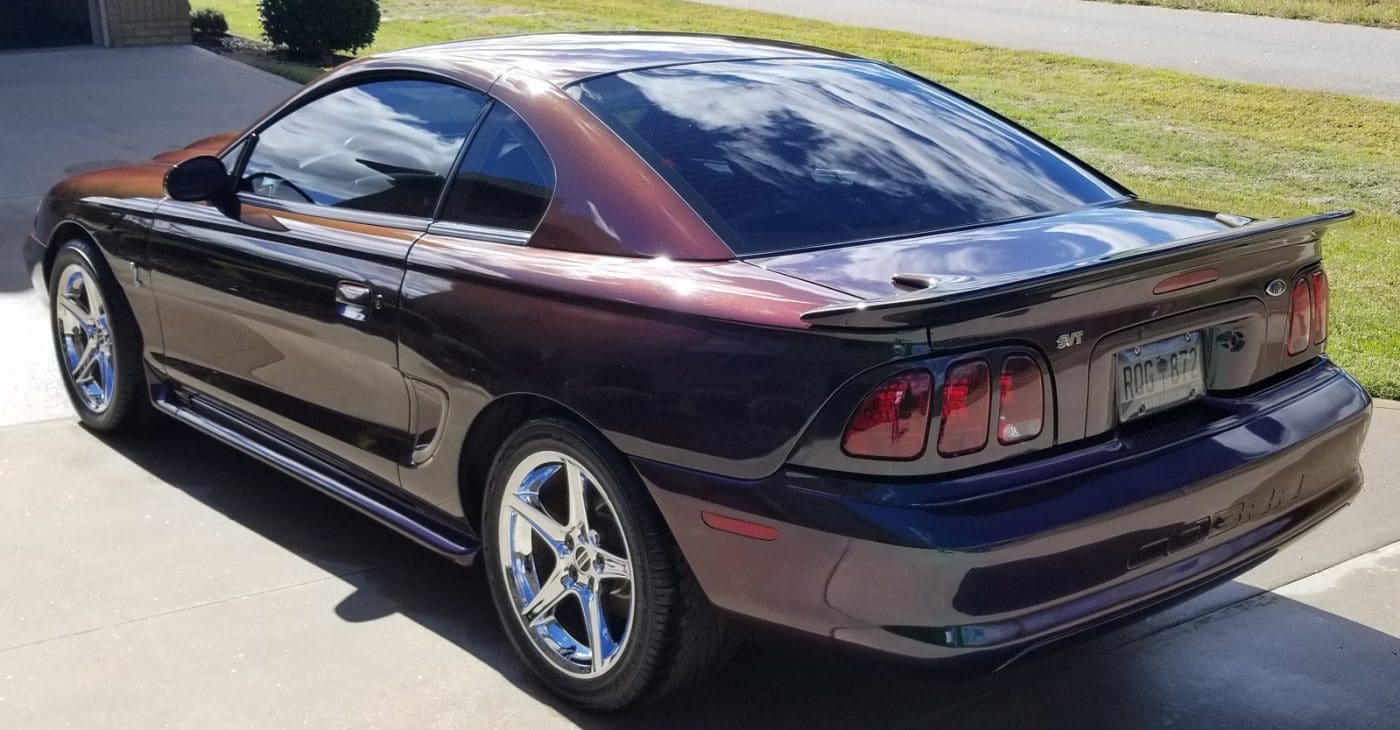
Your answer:
[[[92,273],[77,263],[59,277],[53,319],[73,391],[92,413],[105,412],[116,388],[112,324]]]

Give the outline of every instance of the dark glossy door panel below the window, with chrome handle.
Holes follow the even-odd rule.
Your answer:
[[[176,381],[398,483],[399,286],[419,235],[272,203],[244,202],[235,220],[165,202],[151,230],[160,359]],[[343,283],[367,287],[367,304],[340,301]]]

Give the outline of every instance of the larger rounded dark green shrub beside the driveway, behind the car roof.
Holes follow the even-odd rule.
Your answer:
[[[353,53],[374,42],[378,0],[258,0],[263,35],[302,59]]]

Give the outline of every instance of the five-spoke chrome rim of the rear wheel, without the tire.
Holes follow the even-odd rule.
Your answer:
[[[498,567],[531,646],[592,678],[617,664],[636,614],[631,551],[612,500],[582,464],[536,451],[510,475]]]

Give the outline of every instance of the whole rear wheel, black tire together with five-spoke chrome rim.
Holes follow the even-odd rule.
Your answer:
[[[580,530],[575,504],[585,506],[591,534]],[[568,702],[591,710],[651,702],[706,677],[735,649],[640,479],[591,430],[546,418],[511,434],[482,514],[501,625]],[[589,615],[606,633],[591,629]]]

